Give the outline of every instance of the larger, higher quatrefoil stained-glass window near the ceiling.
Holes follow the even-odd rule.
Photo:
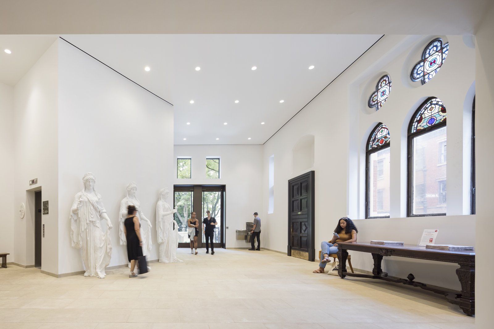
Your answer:
[[[443,65],[449,49],[450,44],[443,44],[443,39],[439,37],[429,42],[422,52],[422,59],[413,66],[410,73],[412,81],[420,80],[422,84],[429,82]]]

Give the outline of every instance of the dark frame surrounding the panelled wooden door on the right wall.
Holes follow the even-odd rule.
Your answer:
[[[294,181],[298,181],[300,179],[303,179],[305,177],[308,178],[308,181],[309,181],[309,189],[308,189],[308,202],[307,202],[307,222],[308,222],[308,233],[307,233],[307,238],[309,240],[309,248],[308,248],[308,260],[309,261],[314,261],[315,259],[315,254],[316,254],[316,251],[315,251],[315,217],[314,217],[314,212],[315,212],[315,197],[314,197],[314,193],[315,193],[315,190],[314,190],[314,183],[315,183],[315,179],[314,179],[314,170],[312,171],[309,171],[305,174],[302,174],[302,175],[299,175],[295,178],[292,178],[290,180],[288,180],[288,245],[287,245],[287,255],[288,256],[291,256],[291,250],[297,250],[297,248],[291,248],[291,235],[292,235],[292,232],[291,232],[291,187],[290,187],[290,184]]]

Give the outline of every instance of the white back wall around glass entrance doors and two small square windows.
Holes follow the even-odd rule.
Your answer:
[[[262,145],[203,145],[174,147],[174,184],[219,184],[226,185],[226,248],[249,247],[244,240],[237,240],[236,229],[245,229],[246,222],[252,221],[254,212],[261,218],[261,246],[264,247],[267,224],[267,208],[263,208],[263,173]],[[192,158],[192,178],[177,179],[176,158]],[[206,179],[206,157],[220,157],[220,178]],[[275,160],[276,161],[276,160]],[[171,189],[172,186],[169,188]],[[172,202],[170,198],[170,203]],[[264,220],[263,220],[264,219]]]

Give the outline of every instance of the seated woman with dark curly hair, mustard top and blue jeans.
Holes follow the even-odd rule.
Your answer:
[[[319,268],[312,273],[324,273],[326,263],[330,261],[329,255],[336,254],[338,251],[338,242],[356,242],[359,230],[352,219],[342,217],[338,220],[338,225],[334,232],[338,234],[338,237],[333,235],[331,242],[321,242],[321,262],[319,263]],[[338,268],[335,267],[333,270],[337,271]]]

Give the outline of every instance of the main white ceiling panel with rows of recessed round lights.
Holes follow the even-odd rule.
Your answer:
[[[207,145],[263,144],[381,36],[62,37],[173,104],[176,145]]]

